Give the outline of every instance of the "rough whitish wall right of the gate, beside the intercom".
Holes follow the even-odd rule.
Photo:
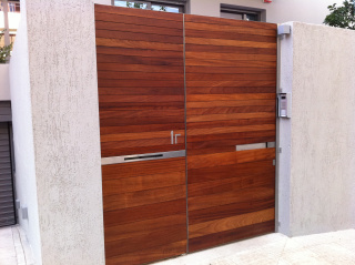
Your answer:
[[[355,228],[355,32],[292,26],[281,41],[281,84],[293,93],[283,142],[291,169],[280,175],[290,183],[281,186],[290,188],[290,212],[281,207],[281,218],[288,214],[290,235]]]

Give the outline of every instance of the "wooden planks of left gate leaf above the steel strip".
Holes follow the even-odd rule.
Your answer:
[[[184,149],[182,14],[95,6],[95,21],[102,156]]]

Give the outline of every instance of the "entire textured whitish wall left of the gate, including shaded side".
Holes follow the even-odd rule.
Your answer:
[[[37,264],[104,264],[93,3],[22,0],[21,12],[11,61],[21,225]]]

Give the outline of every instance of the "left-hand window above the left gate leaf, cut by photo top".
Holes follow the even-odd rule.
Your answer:
[[[185,3],[186,3],[186,0],[179,0],[179,1],[168,1],[168,0],[121,1],[121,0],[112,0],[112,4],[115,7],[148,9],[148,10],[163,11],[163,12],[171,12],[171,13],[183,13],[185,11]]]

